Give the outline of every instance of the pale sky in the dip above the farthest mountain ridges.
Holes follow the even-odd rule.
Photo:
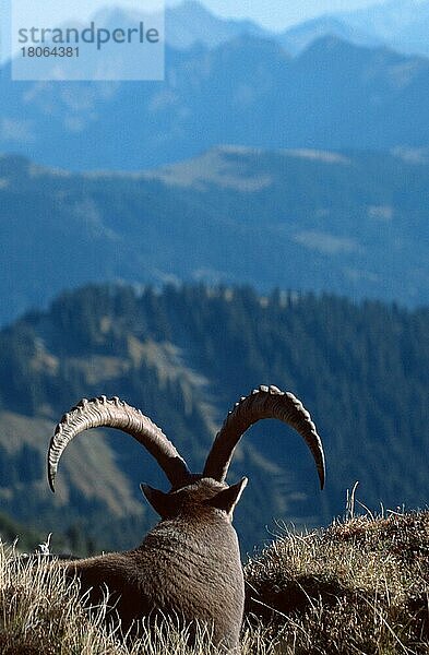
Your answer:
[[[166,0],[179,4],[181,0]],[[213,13],[224,17],[251,19],[264,27],[281,31],[307,19],[338,11],[382,4],[383,0],[200,0]]]

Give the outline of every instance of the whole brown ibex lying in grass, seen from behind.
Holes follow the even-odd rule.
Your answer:
[[[245,583],[233,511],[247,478],[230,487],[225,479],[241,436],[254,422],[276,418],[294,427],[309,446],[324,485],[324,454],[309,413],[291,393],[260,386],[229,412],[206,458],[193,474],[176,448],[150,418],[117,397],[83,400],[63,416],[48,451],[48,479],[53,491],[58,463],[76,434],[100,426],[131,434],[155,457],[171,489],[141,489],[160,515],[141,546],[68,562],[82,592],[98,603],[106,587],[124,631],[143,617],[176,617],[180,624],[207,627],[213,642],[228,652],[238,648]],[[192,628],[191,628],[192,630]]]

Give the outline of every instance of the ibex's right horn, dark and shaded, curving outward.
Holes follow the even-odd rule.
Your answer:
[[[321,489],[324,486],[325,464],[322,441],[310,414],[293,394],[276,386],[260,386],[236,403],[208,453],[203,475],[225,481],[235,448],[250,426],[262,418],[278,418],[303,438],[314,457]]]

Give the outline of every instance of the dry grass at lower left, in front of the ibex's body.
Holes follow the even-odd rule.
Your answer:
[[[203,629],[190,647],[187,632],[174,621],[127,643],[117,628],[105,629],[108,598],[99,608],[85,609],[79,585],[70,584],[59,568],[23,559],[0,545],[0,653],[2,655],[225,655],[210,643]],[[271,655],[262,628],[247,630],[242,653]]]

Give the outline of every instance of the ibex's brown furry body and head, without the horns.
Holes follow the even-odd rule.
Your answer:
[[[236,648],[245,585],[231,516],[246,483],[227,487],[203,478],[169,493],[143,487],[162,520],[139,548],[62,565],[92,605],[108,588],[110,616],[120,618],[123,632],[135,632],[143,617],[176,617],[191,635],[196,621],[213,631],[214,643]]]

